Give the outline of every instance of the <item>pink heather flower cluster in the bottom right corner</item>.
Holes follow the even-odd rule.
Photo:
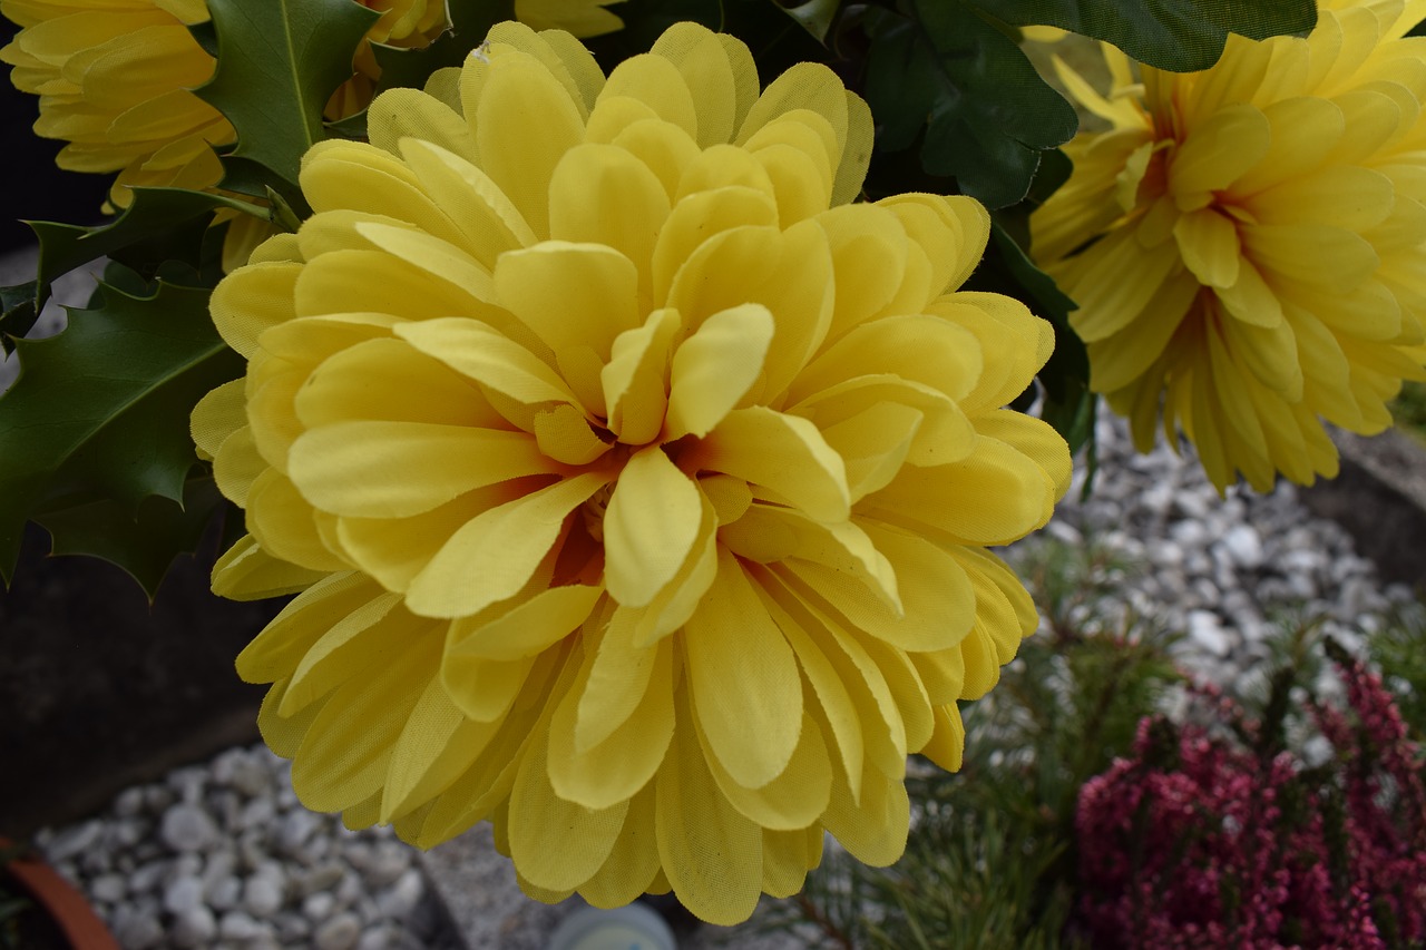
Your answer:
[[[1339,668],[1348,710],[1310,705],[1335,750],[1325,765],[1249,749],[1242,739],[1259,739],[1262,725],[1202,690],[1236,729],[1145,719],[1134,757],[1085,783],[1079,917],[1091,946],[1387,950],[1426,940],[1423,762],[1380,678],[1358,662]]]

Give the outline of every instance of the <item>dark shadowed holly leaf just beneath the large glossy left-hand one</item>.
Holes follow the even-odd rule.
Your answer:
[[[153,601],[174,559],[197,551],[224,506],[212,476],[195,475],[184,482],[181,504],[157,495],[137,509],[108,498],[61,499],[34,521],[50,532],[51,553],[103,558],[134,578]]]

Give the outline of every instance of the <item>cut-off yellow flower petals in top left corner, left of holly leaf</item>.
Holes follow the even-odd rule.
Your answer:
[[[188,91],[212,76],[187,29],[208,19],[202,0],[0,0],[0,13],[23,27],[0,61],[40,97],[34,130],[68,143],[61,168],[117,171],[117,207],[133,185],[218,183],[210,145],[232,143],[232,126]]]

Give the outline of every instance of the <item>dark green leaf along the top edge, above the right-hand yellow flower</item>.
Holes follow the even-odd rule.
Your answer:
[[[1105,40],[1161,70],[1206,70],[1229,33],[1262,40],[1305,33],[1318,21],[1315,0],[971,0],[1015,26],[1055,26]]]

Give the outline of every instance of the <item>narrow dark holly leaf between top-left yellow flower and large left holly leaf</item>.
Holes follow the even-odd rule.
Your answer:
[[[40,240],[36,310],[44,305],[50,284],[81,264],[100,257],[123,261],[148,277],[168,260],[198,264],[202,233],[217,208],[244,213],[265,210],[207,191],[187,188],[134,188],[133,203],[110,224],[84,228],[56,221],[30,221]]]

